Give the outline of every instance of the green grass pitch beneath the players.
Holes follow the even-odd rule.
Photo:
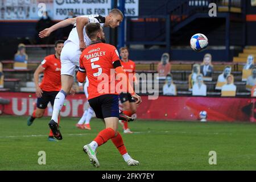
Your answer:
[[[26,117],[0,116],[0,170],[255,170],[256,125],[141,121],[130,123],[134,134],[123,134],[127,151],[140,165],[129,167],[111,140],[97,149],[100,168],[89,163],[82,146],[104,129],[92,119],[92,130],[75,127],[79,118],[61,118],[63,140],[48,142],[44,117],[27,126]],[[121,130],[121,126],[119,127]],[[46,165],[38,152],[46,152]],[[209,151],[217,164],[210,165]]]

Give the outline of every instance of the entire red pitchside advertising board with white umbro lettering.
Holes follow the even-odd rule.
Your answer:
[[[35,93],[2,92],[0,97],[10,100],[9,105],[0,106],[1,113],[31,115],[36,108]],[[137,109],[139,119],[198,121],[200,111],[205,110],[208,121],[249,122],[255,98],[159,96],[157,100],[148,100],[148,96],[142,96],[142,101]],[[86,107],[84,94],[68,96],[60,115],[81,117]],[[51,112],[46,109],[45,115]]]

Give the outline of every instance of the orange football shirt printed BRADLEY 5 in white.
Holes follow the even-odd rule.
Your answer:
[[[104,94],[118,94],[115,90],[114,61],[119,60],[117,49],[105,43],[90,44],[80,56],[80,71],[86,71],[89,80],[88,100]]]

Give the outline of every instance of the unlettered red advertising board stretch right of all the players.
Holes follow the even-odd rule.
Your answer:
[[[159,96],[142,97],[137,109],[140,119],[199,121],[200,111],[207,111],[208,121],[250,121],[254,98]]]

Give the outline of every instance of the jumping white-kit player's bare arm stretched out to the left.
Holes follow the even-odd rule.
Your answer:
[[[39,32],[39,37],[40,38],[46,38],[47,36],[49,36],[51,34],[51,32],[53,32],[53,31],[55,31],[59,28],[67,27],[67,26],[69,26],[71,24],[75,24],[75,23],[76,23],[76,17],[62,20],[61,22],[56,23],[53,26],[40,31]]]

